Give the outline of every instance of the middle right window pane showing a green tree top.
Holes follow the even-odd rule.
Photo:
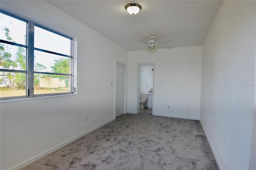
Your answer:
[[[71,59],[34,50],[34,71],[70,74]]]

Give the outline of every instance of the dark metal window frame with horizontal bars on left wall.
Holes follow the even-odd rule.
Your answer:
[[[0,43],[6,43],[10,45],[16,45],[18,47],[24,47],[26,48],[26,70],[12,70],[12,69],[0,69],[0,71],[5,72],[13,72],[13,73],[26,73],[26,95],[24,96],[12,96],[12,97],[0,97],[0,101],[5,100],[11,100],[11,99],[24,99],[24,98],[35,98],[35,97],[46,97],[46,96],[60,96],[60,95],[68,95],[76,93],[76,88],[74,87],[74,41],[73,38],[64,34],[61,34],[60,32],[56,32],[55,30],[52,30],[50,28],[47,28],[45,26],[42,26],[40,24],[37,24],[36,22],[26,20],[24,18],[21,18],[19,16],[15,16],[14,14],[11,14],[9,12],[1,10],[2,14],[8,15],[12,18],[21,20],[23,22],[26,22],[26,45],[22,45],[19,43],[14,42],[8,42],[6,40],[0,40]],[[34,27],[42,28],[46,31],[52,32],[54,34],[57,34],[59,36],[62,36],[64,38],[70,39],[70,55],[65,55],[62,53],[57,53],[54,51],[48,51],[40,48],[34,47]],[[42,51],[50,54],[59,55],[62,57],[68,57],[70,58],[70,74],[65,73],[48,73],[48,72],[40,72],[40,71],[34,71],[34,50]],[[63,93],[45,93],[45,94],[34,94],[34,74],[49,74],[49,75],[64,75],[70,77],[70,91],[63,92]]]

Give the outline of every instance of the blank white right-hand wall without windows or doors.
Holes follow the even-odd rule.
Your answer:
[[[224,1],[202,47],[200,121],[220,169],[249,169],[255,3]]]

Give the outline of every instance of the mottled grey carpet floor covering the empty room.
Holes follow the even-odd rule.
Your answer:
[[[188,120],[202,133],[199,121]],[[141,109],[29,164],[22,170],[218,170],[205,135],[184,119]]]

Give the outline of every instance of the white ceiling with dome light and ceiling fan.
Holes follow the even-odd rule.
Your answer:
[[[49,3],[128,51],[143,45],[136,38],[166,37],[174,47],[202,45],[223,1],[219,0],[48,0]],[[125,9],[129,3],[142,6],[136,15]]]

